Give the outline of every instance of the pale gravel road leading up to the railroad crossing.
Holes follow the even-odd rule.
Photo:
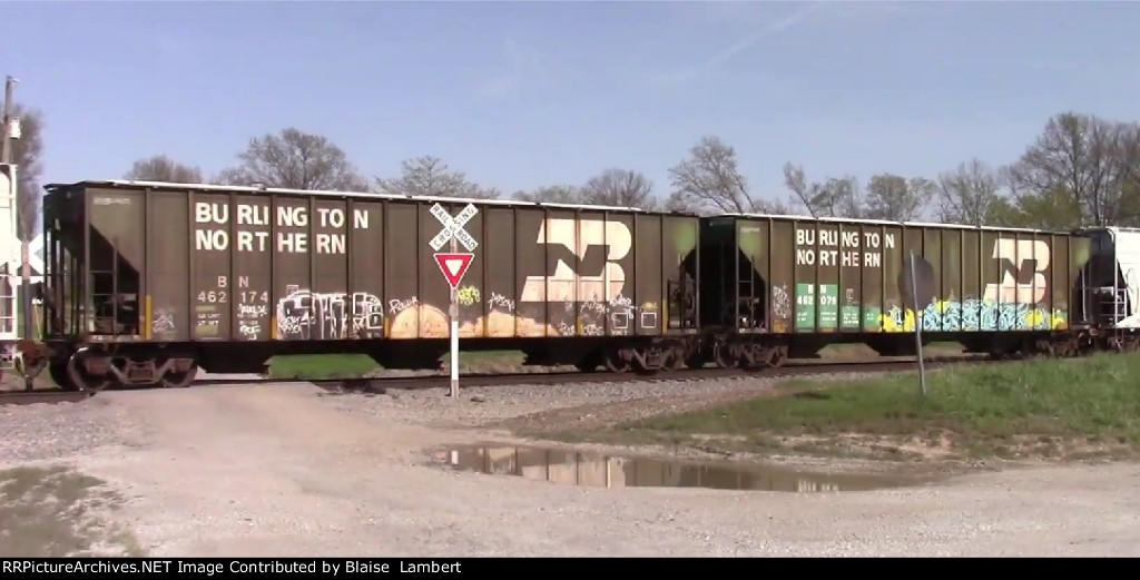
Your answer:
[[[766,386],[105,392],[0,408],[0,469],[66,465],[105,481],[122,500],[100,517],[154,556],[1140,555],[1137,464],[828,493],[575,488],[425,465],[441,446],[506,440],[539,411],[583,424]]]

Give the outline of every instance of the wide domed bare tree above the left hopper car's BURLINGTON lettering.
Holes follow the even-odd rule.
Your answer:
[[[324,137],[292,126],[276,136],[251,139],[238,160],[237,166],[221,172],[219,181],[287,189],[368,190],[367,180],[340,147]]]

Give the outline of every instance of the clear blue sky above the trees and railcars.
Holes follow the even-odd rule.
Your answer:
[[[366,175],[435,155],[507,193],[667,170],[702,136],[763,197],[1015,160],[1049,116],[1140,117],[1134,2],[7,2],[44,181],[212,174],[295,125]]]

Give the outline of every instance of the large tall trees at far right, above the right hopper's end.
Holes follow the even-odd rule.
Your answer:
[[[1023,209],[1045,212],[1027,219],[1058,228],[1134,221],[1135,202],[1126,194],[1135,191],[1129,157],[1140,147],[1137,139],[1134,125],[1092,115],[1050,119],[1008,172]]]

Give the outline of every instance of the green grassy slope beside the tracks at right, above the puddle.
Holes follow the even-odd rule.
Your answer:
[[[1140,356],[1032,360],[857,382],[793,381],[781,392],[561,439],[712,444],[759,452],[904,457],[905,444],[955,455],[1101,456],[1140,449]],[[864,444],[853,444],[862,441]]]

